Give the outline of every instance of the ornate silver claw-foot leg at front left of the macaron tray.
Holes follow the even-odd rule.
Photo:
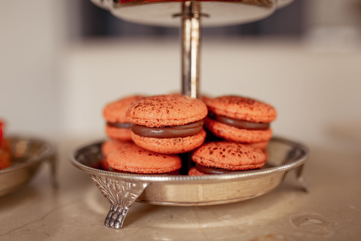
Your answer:
[[[110,228],[121,228],[129,207],[135,202],[148,183],[126,182],[90,174],[101,193],[111,206],[104,224]]]

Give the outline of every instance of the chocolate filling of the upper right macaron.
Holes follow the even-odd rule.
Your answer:
[[[231,125],[239,129],[246,130],[267,130],[270,128],[269,123],[253,123],[243,120],[236,120],[225,116],[218,116],[213,112],[208,112],[208,117],[212,120],[219,121],[223,124]]]

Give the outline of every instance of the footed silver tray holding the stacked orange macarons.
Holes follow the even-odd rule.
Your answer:
[[[137,202],[169,206],[201,206],[238,202],[258,197],[276,188],[287,171],[297,168],[303,188],[309,188],[301,172],[308,148],[283,138],[272,138],[265,167],[222,175],[143,175],[96,169],[103,158],[103,142],[80,147],[71,153],[71,162],[88,172],[110,202],[105,225],[121,228],[129,207]]]

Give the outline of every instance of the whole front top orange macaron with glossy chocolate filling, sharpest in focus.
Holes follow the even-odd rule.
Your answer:
[[[144,149],[178,154],[204,143],[204,102],[184,95],[159,95],[136,100],[128,108],[132,140]]]

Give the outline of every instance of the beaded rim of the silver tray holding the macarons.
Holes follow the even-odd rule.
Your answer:
[[[178,182],[178,181],[231,180],[231,179],[252,178],[263,175],[270,175],[271,173],[288,171],[290,169],[299,167],[300,165],[304,164],[304,162],[309,156],[309,149],[303,143],[291,141],[289,139],[282,137],[273,137],[272,140],[287,143],[295,147],[299,147],[304,151],[304,155],[302,155],[299,159],[293,162],[279,165],[277,167],[269,167],[265,169],[257,169],[252,171],[242,171],[242,172],[237,172],[235,174],[211,174],[211,175],[202,175],[202,176],[188,176],[188,175],[168,176],[168,175],[145,175],[145,174],[109,172],[109,171],[103,171],[96,168],[88,167],[87,165],[78,162],[76,156],[79,154],[79,152],[81,152],[83,149],[91,148],[92,146],[99,145],[100,143],[104,142],[103,140],[103,141],[92,142],[90,144],[75,148],[73,151],[70,152],[70,160],[71,163],[73,163],[76,167],[84,171],[87,171],[88,173],[101,175],[105,177],[118,178],[118,179],[131,179],[131,180],[139,180],[139,181]]]

